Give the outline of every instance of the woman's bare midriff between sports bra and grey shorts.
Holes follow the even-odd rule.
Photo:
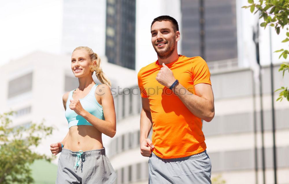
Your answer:
[[[89,151],[103,148],[101,132],[94,126],[78,125],[69,128],[65,149],[71,151]]]

